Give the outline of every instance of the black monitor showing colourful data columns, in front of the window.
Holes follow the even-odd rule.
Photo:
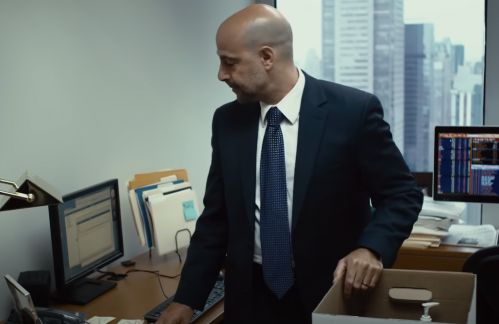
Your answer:
[[[435,200],[499,203],[499,127],[437,126]]]

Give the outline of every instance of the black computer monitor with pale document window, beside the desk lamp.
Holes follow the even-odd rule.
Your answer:
[[[57,288],[51,297],[85,305],[116,286],[87,276],[124,254],[118,180],[66,194],[62,200],[49,206]]]

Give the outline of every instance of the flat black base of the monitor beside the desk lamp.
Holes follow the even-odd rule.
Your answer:
[[[115,282],[85,278],[51,294],[52,300],[64,304],[86,305],[116,287]]]

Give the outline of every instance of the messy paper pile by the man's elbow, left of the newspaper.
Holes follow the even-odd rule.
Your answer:
[[[422,249],[439,247],[442,239],[449,235],[451,226],[462,223],[461,215],[465,208],[464,202],[435,201],[432,197],[425,197],[411,235],[402,246]]]

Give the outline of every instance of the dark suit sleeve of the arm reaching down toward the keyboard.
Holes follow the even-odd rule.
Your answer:
[[[212,123],[212,162],[208,173],[205,209],[196,222],[174,301],[202,311],[222,269],[228,238],[224,181],[217,135],[217,110]]]

